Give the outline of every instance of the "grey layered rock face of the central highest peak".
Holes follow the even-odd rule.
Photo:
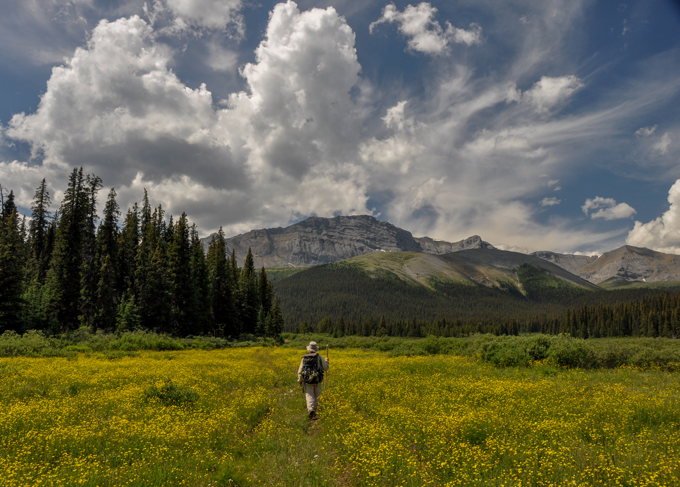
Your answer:
[[[213,235],[201,239],[207,249]],[[298,267],[342,261],[371,252],[427,252],[447,254],[469,248],[494,248],[475,235],[451,243],[430,237],[414,238],[411,232],[369,215],[312,216],[275,229],[252,230],[226,239],[243,265],[250,247],[256,267]]]

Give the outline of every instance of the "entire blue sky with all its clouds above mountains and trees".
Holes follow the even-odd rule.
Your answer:
[[[4,0],[0,184],[73,167],[201,235],[371,214],[680,254],[680,3]]]

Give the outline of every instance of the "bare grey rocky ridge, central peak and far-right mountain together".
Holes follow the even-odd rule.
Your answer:
[[[207,246],[214,236],[201,239]],[[311,216],[285,228],[252,230],[226,239],[243,264],[248,248],[256,267],[308,267],[343,261],[374,252],[424,252],[444,255],[461,250],[494,249],[479,235],[457,242],[413,237],[411,232],[370,215]],[[492,254],[479,252],[480,256]],[[601,256],[558,254],[541,250],[531,256],[605,287],[615,282],[666,282],[680,280],[680,256],[647,248],[623,246]],[[610,286],[611,287],[611,286]]]

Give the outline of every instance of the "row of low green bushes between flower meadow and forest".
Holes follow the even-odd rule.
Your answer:
[[[481,335],[468,337],[332,337],[326,334],[284,333],[286,347],[304,348],[316,341],[321,348],[379,350],[390,356],[449,354],[474,356],[498,367],[528,366],[541,362],[556,367],[596,369],[622,365],[680,370],[680,340],[666,338],[578,339],[570,335]],[[226,347],[273,346],[274,339],[244,335],[228,341],[218,337],[177,338],[133,331],[90,333],[86,329],[64,335],[46,336],[39,331],[0,335],[0,356],[65,356],[98,352],[105,358],[120,358],[141,350],[214,350]],[[322,350],[323,353],[323,350]]]

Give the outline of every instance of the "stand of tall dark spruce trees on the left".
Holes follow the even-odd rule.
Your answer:
[[[206,253],[186,214],[166,219],[146,190],[121,224],[112,188],[100,220],[101,188],[100,178],[73,169],[51,214],[43,180],[27,221],[0,186],[0,331],[281,335],[267,272],[254,269],[250,252],[239,267],[222,229]]]

